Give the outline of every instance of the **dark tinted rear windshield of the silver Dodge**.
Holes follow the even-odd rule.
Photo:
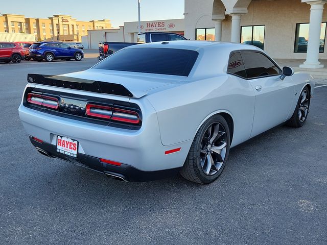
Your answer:
[[[187,77],[198,55],[193,50],[176,48],[127,48],[109,56],[94,68]]]

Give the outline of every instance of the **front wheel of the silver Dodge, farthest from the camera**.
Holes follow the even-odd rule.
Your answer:
[[[291,119],[289,119],[287,122],[288,126],[293,128],[300,128],[305,124],[309,113],[310,97],[311,94],[309,92],[309,88],[303,88],[298,98],[294,113]]]

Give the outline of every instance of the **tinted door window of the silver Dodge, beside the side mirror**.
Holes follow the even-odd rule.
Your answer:
[[[258,52],[241,52],[247,78],[278,75],[281,70],[265,55]]]

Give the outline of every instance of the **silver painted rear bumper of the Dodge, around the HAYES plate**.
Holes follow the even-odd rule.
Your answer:
[[[19,117],[29,135],[41,139],[43,145],[48,143],[52,146],[51,149],[41,148],[45,151],[51,150],[52,154],[56,152],[57,135],[59,135],[77,140],[78,156],[93,157],[97,162],[102,158],[145,172],[181,167],[188,155],[192,140],[168,146],[162,145],[157,115],[153,107],[148,104],[140,104],[140,107],[143,112],[147,112],[147,117],[143,118],[139,130],[95,125],[37,111],[22,104],[19,107]],[[181,150],[166,154],[167,151],[177,148]],[[103,173],[106,170],[106,168],[90,168]]]

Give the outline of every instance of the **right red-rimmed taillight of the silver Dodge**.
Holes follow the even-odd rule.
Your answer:
[[[135,125],[140,122],[139,114],[136,111],[95,104],[87,104],[85,108],[86,115],[91,117],[110,119]]]

